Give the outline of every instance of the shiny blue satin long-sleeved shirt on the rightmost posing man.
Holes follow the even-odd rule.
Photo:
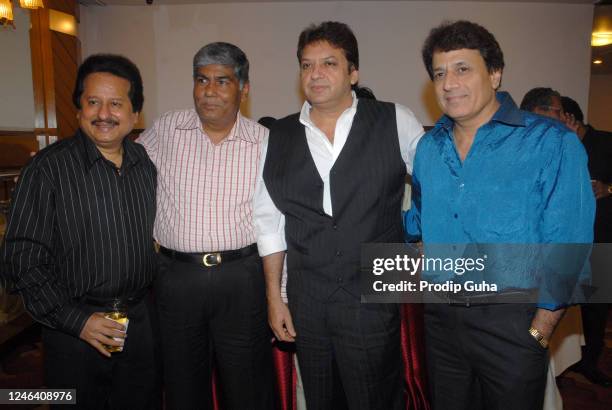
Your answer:
[[[463,163],[447,116],[419,142],[407,240],[590,244],[595,199],[578,137],[559,121],[519,110],[506,92],[497,99],[500,108],[478,129]],[[514,269],[525,266],[517,261]],[[506,274],[505,286],[533,285],[524,278]]]

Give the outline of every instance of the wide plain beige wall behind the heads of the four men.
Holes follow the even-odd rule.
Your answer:
[[[299,32],[311,22],[340,20],[359,40],[361,84],[433,124],[440,113],[420,59],[433,26],[465,18],[489,28],[506,57],[503,87],[517,103],[530,88],[550,86],[586,107],[592,13],[588,4],[457,1],[82,7],[80,37],[84,57],[115,52],[138,64],[146,125],[167,110],[192,105],[191,59],[199,47],[218,40],[237,44],[251,62],[247,113],[279,117],[301,104]]]

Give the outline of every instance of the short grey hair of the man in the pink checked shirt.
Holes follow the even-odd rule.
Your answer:
[[[198,75],[198,68],[210,64],[229,65],[240,82],[240,89],[249,82],[249,60],[239,47],[218,41],[202,47],[193,56],[193,78]]]

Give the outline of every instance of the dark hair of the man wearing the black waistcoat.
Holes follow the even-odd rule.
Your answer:
[[[359,48],[357,38],[353,30],[337,21],[325,21],[321,24],[311,24],[300,33],[298,40],[297,57],[298,62],[302,61],[304,48],[310,44],[327,41],[335,48],[339,48],[344,53],[349,62],[349,70],[359,70]]]

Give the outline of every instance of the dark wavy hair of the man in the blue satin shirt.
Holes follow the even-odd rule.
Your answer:
[[[504,69],[504,53],[499,43],[486,28],[471,21],[445,21],[429,32],[421,50],[423,63],[433,80],[433,55],[435,52],[478,50],[489,73]]]

